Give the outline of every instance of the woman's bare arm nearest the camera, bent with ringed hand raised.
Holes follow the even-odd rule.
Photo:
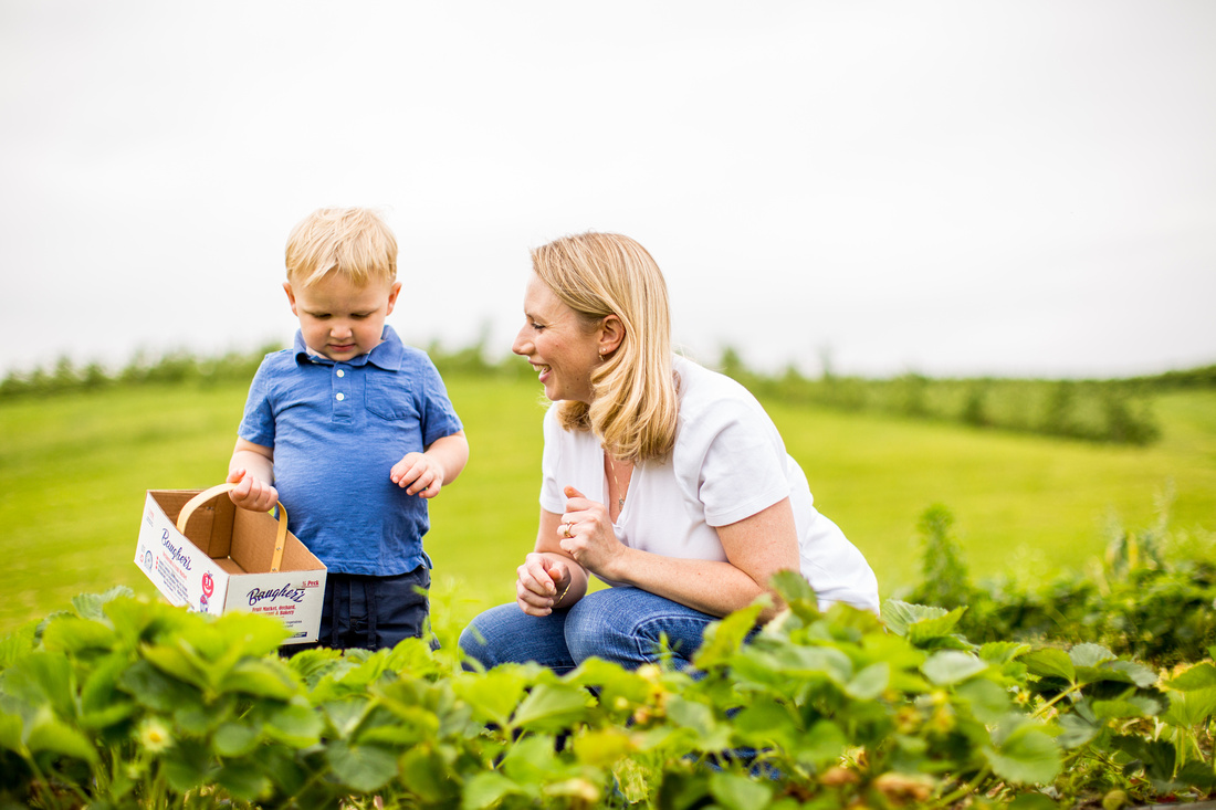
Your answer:
[[[789,499],[737,523],[717,529],[728,562],[681,559],[630,549],[617,540],[607,508],[567,488],[567,511],[561,521],[574,523],[573,538],[561,550],[591,573],[627,583],[710,615],[726,615],[764,592],[779,570],[798,570],[798,531]],[[561,530],[559,530],[561,533]],[[781,607],[761,613],[769,619]]]

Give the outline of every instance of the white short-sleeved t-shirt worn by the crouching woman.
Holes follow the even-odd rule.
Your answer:
[[[632,549],[666,557],[726,561],[716,527],[737,523],[789,497],[798,528],[801,573],[820,606],[846,602],[878,611],[878,580],[835,523],[814,506],[801,467],[786,452],[759,401],[730,377],[674,358],[679,418],[671,457],[634,468],[629,496],[614,524]],[[545,416],[541,508],[565,511],[563,488],[608,502],[599,440],[564,431],[556,409]],[[612,585],[614,583],[609,583]]]

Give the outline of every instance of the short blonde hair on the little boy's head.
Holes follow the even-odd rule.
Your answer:
[[[287,281],[303,287],[331,272],[362,287],[396,281],[396,237],[368,208],[319,208],[287,237]]]

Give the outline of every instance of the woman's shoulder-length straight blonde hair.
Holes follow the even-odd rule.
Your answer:
[[[618,234],[565,236],[531,252],[533,270],[589,331],[615,315],[620,344],[591,371],[591,404],[558,403],[565,429],[592,431],[614,459],[663,459],[676,440],[671,314],[659,265]]]

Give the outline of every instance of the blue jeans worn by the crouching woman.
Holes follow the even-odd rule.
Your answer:
[[[608,587],[546,617],[528,615],[516,603],[490,608],[465,628],[460,647],[486,669],[536,662],[561,675],[591,657],[625,669],[658,662],[666,637],[671,663],[685,669],[716,620],[648,591]]]

